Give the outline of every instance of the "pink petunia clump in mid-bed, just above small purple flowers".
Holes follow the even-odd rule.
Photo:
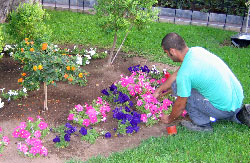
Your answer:
[[[70,110],[68,120],[78,123],[80,126],[88,127],[90,124],[97,124],[106,121],[107,112],[110,111],[109,104],[98,97],[93,100],[92,105],[85,103],[84,106],[78,104]]]

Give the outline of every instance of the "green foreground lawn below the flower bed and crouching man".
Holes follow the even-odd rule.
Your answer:
[[[152,137],[137,148],[87,162],[249,162],[249,128],[225,121],[213,127],[213,133],[178,127],[175,136]]]

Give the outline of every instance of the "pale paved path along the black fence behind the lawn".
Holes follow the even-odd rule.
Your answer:
[[[70,6],[69,8],[69,5],[61,5],[61,4],[54,4],[54,3],[43,3],[43,7],[46,9],[70,10],[73,12],[94,13],[93,8],[90,8],[90,7]],[[225,24],[221,22],[207,22],[207,21],[202,21],[202,20],[191,21],[190,19],[170,17],[170,16],[159,16],[158,21],[175,23],[175,24],[185,24],[185,25],[190,24],[190,25],[199,25],[199,26],[209,26],[209,27],[231,30],[231,31],[236,31],[236,32],[240,32],[242,28],[241,25],[239,24],[229,24],[229,23]]]

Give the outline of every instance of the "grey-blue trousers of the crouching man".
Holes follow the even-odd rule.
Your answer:
[[[172,84],[172,91],[176,95],[176,82]],[[240,108],[235,112],[216,109],[195,89],[192,89],[191,96],[188,97],[186,110],[193,123],[199,126],[209,125],[210,117],[213,117],[217,120],[226,119],[240,123],[236,118],[236,113],[238,113]]]

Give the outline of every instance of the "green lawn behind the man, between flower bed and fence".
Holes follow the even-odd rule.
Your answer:
[[[73,13],[69,11],[50,11],[51,20],[47,23],[53,30],[52,41],[57,44],[84,44],[110,48],[113,41],[112,33],[105,33],[99,26],[95,15]],[[179,33],[189,47],[201,46],[223,59],[240,80],[244,89],[244,103],[250,103],[250,62],[248,48],[235,48],[230,44],[230,37],[236,32],[225,31],[202,26],[176,25],[153,22],[142,31],[132,29],[125,42],[123,51],[143,55],[150,60],[171,65],[172,62],[161,49],[161,39],[169,32]],[[119,33],[118,44],[124,36]]]

